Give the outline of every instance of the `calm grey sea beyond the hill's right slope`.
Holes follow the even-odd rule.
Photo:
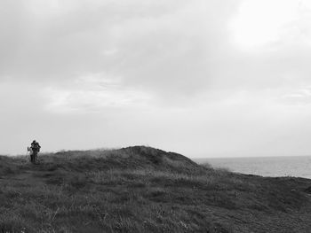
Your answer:
[[[311,156],[194,159],[199,164],[262,176],[296,176],[311,179]]]

